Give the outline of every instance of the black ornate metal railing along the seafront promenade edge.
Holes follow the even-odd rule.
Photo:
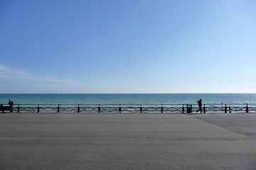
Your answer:
[[[197,104],[18,104],[14,113],[196,113]],[[203,113],[256,113],[256,103],[203,104]]]

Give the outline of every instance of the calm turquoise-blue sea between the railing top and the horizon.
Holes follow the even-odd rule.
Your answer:
[[[256,103],[256,94],[0,94],[0,103],[16,104],[195,104]]]

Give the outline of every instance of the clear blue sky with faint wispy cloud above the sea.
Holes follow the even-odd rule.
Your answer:
[[[1,0],[0,94],[256,93],[254,0]]]

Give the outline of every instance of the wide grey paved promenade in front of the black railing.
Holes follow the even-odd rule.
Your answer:
[[[1,113],[0,169],[256,169],[256,113]]]

